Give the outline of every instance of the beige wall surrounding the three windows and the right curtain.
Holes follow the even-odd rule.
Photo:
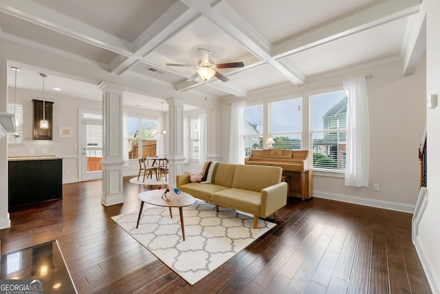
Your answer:
[[[366,83],[371,116],[371,152],[369,187],[345,187],[344,178],[314,173],[313,195],[316,197],[366,204],[400,211],[414,211],[419,194],[418,145],[425,127],[426,72],[424,59],[415,74],[402,76],[401,61],[377,65],[349,74],[310,81],[296,90],[267,94],[263,100],[276,96],[307,97],[320,90],[335,87],[344,78],[373,74]],[[320,86],[323,85],[323,86]],[[262,99],[256,98],[254,101]],[[252,99],[250,99],[252,100]],[[247,101],[247,103],[254,102]],[[224,102],[222,132],[223,160],[228,160],[230,105]],[[303,112],[303,116],[306,115]],[[308,132],[306,131],[306,134]],[[307,136],[306,136],[307,137]],[[373,183],[380,191],[373,191]]]

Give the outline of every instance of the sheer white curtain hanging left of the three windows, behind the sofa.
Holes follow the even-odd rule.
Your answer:
[[[245,103],[243,101],[231,104],[231,125],[229,139],[229,163],[243,165],[245,160],[245,141],[243,135],[243,120]]]

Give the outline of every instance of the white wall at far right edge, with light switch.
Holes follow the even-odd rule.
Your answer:
[[[440,96],[440,1],[423,1],[426,10],[426,94]],[[418,227],[416,249],[432,292],[440,293],[440,106],[427,109],[428,205]]]

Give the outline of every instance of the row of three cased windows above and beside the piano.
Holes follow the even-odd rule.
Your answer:
[[[303,113],[303,107],[308,111]],[[252,149],[263,149],[263,140],[273,138],[274,148],[309,149],[309,167],[314,170],[337,174],[345,170],[347,95],[342,87],[246,105],[244,119],[245,156]],[[309,134],[305,143],[304,132]]]

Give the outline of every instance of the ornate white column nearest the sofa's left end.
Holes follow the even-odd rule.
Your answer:
[[[176,175],[184,173],[184,104],[170,98],[168,103],[168,182],[175,187]]]

